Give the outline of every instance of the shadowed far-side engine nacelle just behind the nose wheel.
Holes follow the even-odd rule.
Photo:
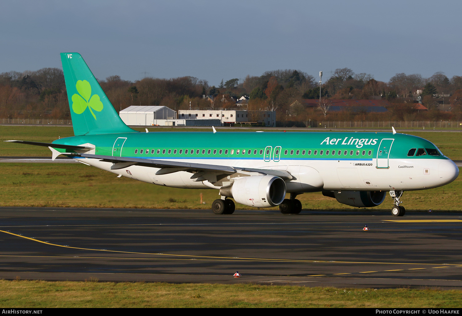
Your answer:
[[[387,191],[323,191],[325,196],[334,197],[338,202],[353,207],[375,207],[385,200]]]

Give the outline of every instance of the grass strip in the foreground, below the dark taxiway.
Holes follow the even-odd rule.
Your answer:
[[[27,295],[24,295],[27,293]],[[434,307],[460,308],[462,291],[336,289],[255,284],[0,280],[0,308],[68,307]]]

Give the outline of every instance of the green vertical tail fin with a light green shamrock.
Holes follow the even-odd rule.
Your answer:
[[[136,132],[117,114],[79,53],[61,53],[74,135]]]

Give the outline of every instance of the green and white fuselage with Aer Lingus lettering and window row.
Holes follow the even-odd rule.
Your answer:
[[[450,183],[458,174],[455,164],[441,155],[435,145],[406,134],[151,132],[81,135],[54,143],[92,144],[94,154],[103,156],[287,170],[294,176],[286,182],[289,193],[422,190]],[[416,149],[414,155],[408,156],[413,148]],[[424,149],[424,155],[415,155],[419,148]],[[428,153],[429,149],[433,155]],[[161,168],[137,165],[110,170],[112,163],[77,159],[149,183],[176,188],[217,186],[207,180],[207,183],[194,181],[187,171],[156,175]],[[224,182],[224,185],[230,184]]]

